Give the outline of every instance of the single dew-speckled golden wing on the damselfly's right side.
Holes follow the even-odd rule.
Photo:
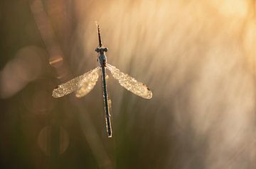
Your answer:
[[[152,92],[144,83],[137,81],[128,74],[122,73],[122,71],[110,64],[107,64],[107,69],[110,70],[112,76],[117,79],[120,85],[126,88],[128,91],[134,93],[135,95],[139,95],[142,98],[152,98]]]

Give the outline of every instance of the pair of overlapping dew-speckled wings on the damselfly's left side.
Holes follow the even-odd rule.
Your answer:
[[[99,69],[100,67],[98,66],[97,68],[92,69],[81,76],[73,78],[66,83],[60,84],[53,90],[53,98],[63,97],[64,95],[68,95],[73,91],[77,91],[75,94],[77,97],[86,95],[95,86],[97,78],[99,77]]]

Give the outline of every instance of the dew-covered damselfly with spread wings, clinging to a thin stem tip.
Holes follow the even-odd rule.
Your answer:
[[[100,25],[97,25],[97,34],[99,39],[99,45],[96,47],[95,52],[98,53],[97,62],[99,62],[100,66],[97,66],[95,69],[87,71],[85,74],[73,78],[66,83],[60,84],[56,88],[53,89],[53,97],[60,98],[64,95],[68,95],[70,93],[75,92],[75,96],[77,98],[82,98],[87,95],[92,89],[95,87],[97,80],[99,78],[99,74],[101,71],[102,75],[102,88],[103,88],[103,102],[105,107],[105,120],[106,120],[106,128],[108,137],[112,137],[112,127],[110,120],[110,100],[107,94],[107,81],[106,81],[106,69],[110,71],[112,76],[117,79],[119,84],[142,98],[151,99],[152,92],[151,90],[142,82],[137,81],[135,78],[132,78],[128,74],[124,74],[122,71],[117,69],[115,66],[107,63],[107,47],[102,45],[102,38],[100,35]]]

